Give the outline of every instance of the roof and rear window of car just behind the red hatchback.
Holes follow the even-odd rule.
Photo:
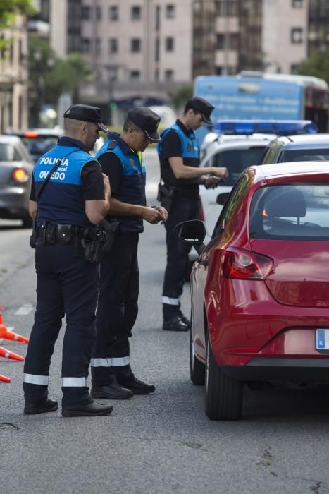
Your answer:
[[[268,143],[261,164],[328,159],[329,134],[287,135]]]

